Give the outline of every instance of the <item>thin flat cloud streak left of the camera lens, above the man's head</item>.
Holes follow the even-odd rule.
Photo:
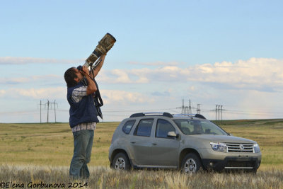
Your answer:
[[[35,57],[0,57],[2,64],[76,64],[84,59],[47,59]]]

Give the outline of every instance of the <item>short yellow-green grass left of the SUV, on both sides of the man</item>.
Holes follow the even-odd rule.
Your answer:
[[[91,165],[107,166],[108,147],[118,122],[99,123],[95,131]],[[0,159],[11,165],[69,166],[73,135],[69,124],[0,124]]]

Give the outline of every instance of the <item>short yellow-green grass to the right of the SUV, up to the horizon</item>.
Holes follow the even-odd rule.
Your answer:
[[[283,169],[283,120],[228,120],[221,127],[234,136],[260,144],[261,169]]]

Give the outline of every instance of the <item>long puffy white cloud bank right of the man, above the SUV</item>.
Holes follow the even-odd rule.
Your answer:
[[[156,69],[104,70],[101,79],[106,83],[120,84],[193,81],[216,88],[274,91],[283,89],[283,60],[250,58],[235,63],[216,62],[186,68],[164,66]]]

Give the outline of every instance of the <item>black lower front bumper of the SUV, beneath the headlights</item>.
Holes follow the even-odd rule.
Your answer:
[[[256,171],[260,166],[261,160],[257,157],[235,157],[227,156],[223,160],[202,159],[204,168],[222,171],[224,169],[243,169]]]

